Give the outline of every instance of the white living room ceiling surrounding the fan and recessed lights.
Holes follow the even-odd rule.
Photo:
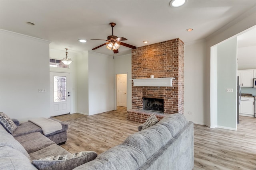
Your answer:
[[[170,0],[0,0],[0,28],[52,41],[50,48],[92,51],[112,35],[136,47],[180,38],[184,43],[204,39],[255,9],[256,0],[187,0],[173,8]],[[31,26],[26,22],[32,22]],[[185,31],[193,28],[191,32]],[[254,35],[256,36],[256,35]],[[80,43],[80,38],[87,43]],[[256,44],[255,44],[256,45]],[[119,55],[130,53],[121,46]],[[104,46],[95,52],[112,55]]]

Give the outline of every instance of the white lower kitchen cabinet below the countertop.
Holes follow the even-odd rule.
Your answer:
[[[241,98],[240,115],[254,117],[254,98]]]

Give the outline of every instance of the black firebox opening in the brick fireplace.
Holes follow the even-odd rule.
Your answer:
[[[164,113],[164,99],[143,98],[143,109]]]

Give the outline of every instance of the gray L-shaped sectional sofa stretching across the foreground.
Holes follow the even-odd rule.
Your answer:
[[[193,129],[193,123],[182,114],[167,115],[156,125],[130,135],[122,144],[98,156],[96,152],[88,151],[83,153],[85,156],[68,162],[38,160],[53,155],[70,155],[42,133],[22,134],[17,131],[13,137],[0,125],[0,167],[19,170],[192,170]],[[22,135],[16,136],[18,132]]]

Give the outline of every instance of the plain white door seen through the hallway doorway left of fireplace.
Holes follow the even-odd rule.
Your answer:
[[[117,74],[117,106],[126,107],[127,74]]]

